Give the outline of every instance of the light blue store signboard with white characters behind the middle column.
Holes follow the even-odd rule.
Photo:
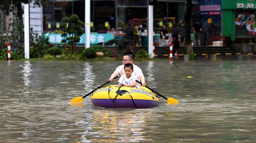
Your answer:
[[[46,34],[44,34],[46,37]],[[52,44],[63,44],[61,43],[61,40],[64,39],[64,37],[61,36],[61,34],[48,34],[49,42]],[[98,44],[101,42],[107,42],[108,40],[114,39],[114,34],[90,34],[90,42],[91,44]],[[77,44],[85,44],[85,34],[82,34],[80,36],[80,42]]]

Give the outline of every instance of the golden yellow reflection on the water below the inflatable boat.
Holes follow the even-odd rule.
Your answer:
[[[144,134],[151,132],[143,129],[150,114],[150,111],[93,111],[91,122],[76,124],[85,125],[81,142],[138,142],[148,138]]]

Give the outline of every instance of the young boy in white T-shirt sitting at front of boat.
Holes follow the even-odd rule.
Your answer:
[[[132,74],[133,73],[133,65],[131,63],[127,63],[126,65],[124,65],[124,72],[125,74],[122,75],[118,82],[118,86],[126,86],[126,87],[135,87],[136,86],[136,79],[137,77]]]

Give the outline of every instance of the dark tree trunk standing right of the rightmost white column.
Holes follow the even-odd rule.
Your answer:
[[[185,29],[186,29],[186,53],[188,55],[194,55],[193,47],[191,45],[191,26],[190,26],[190,17],[192,12],[192,0],[187,0],[187,9],[185,11]]]

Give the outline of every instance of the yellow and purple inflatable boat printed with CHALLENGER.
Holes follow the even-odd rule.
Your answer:
[[[151,90],[125,86],[107,86],[95,90],[91,101],[95,106],[106,108],[149,108],[158,103],[159,95]]]

